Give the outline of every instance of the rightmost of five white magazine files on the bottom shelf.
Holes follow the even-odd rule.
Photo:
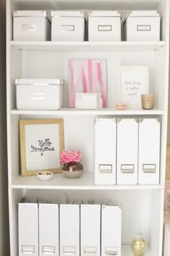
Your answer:
[[[118,205],[102,205],[101,256],[121,256],[122,210]]]

